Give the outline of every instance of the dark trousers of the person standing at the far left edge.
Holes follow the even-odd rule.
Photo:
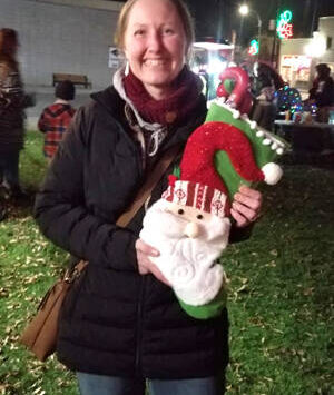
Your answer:
[[[0,184],[10,189],[19,188],[19,150],[0,152]]]

